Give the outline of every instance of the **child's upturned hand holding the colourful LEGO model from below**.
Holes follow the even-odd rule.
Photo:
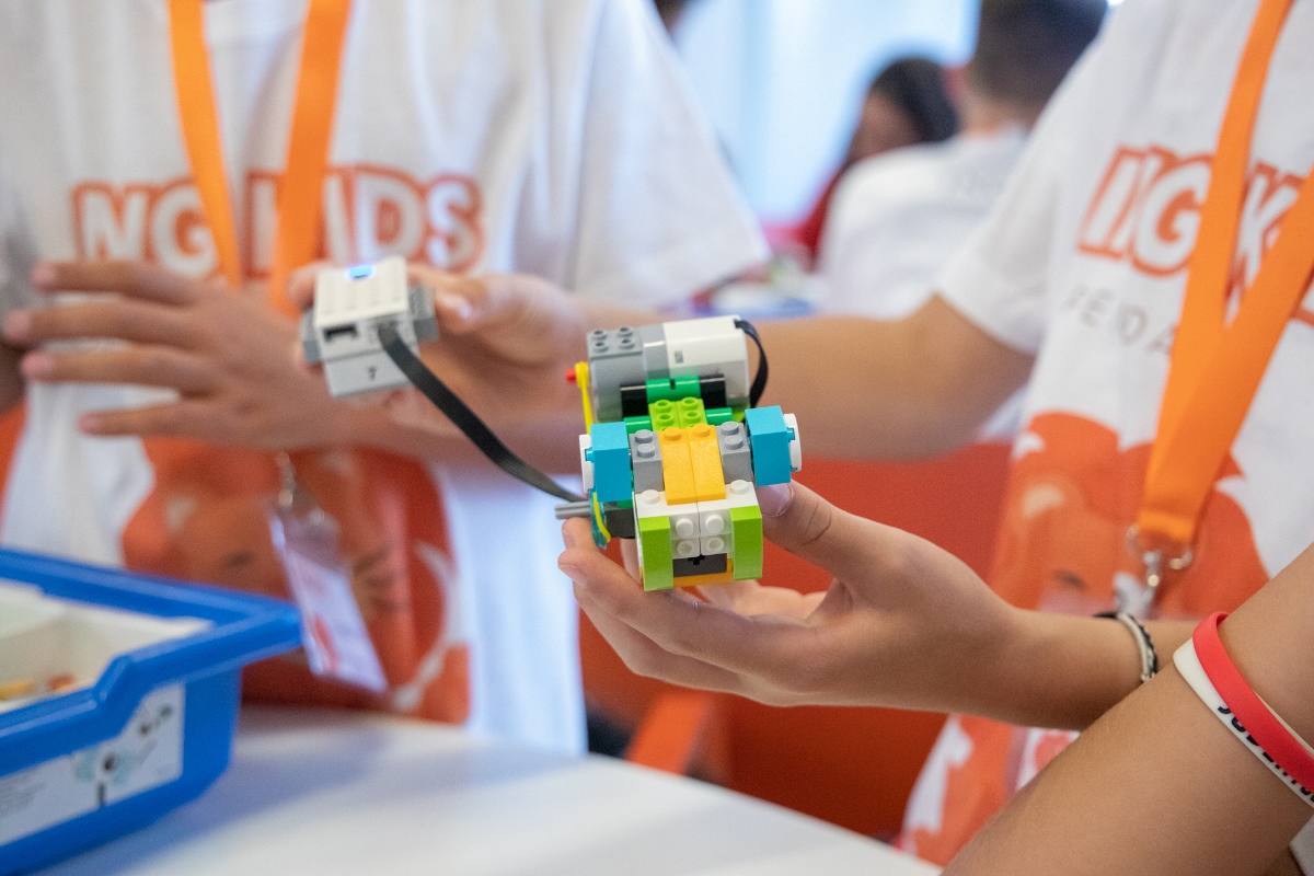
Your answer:
[[[738,582],[644,592],[565,525],[561,569],[640,675],[762,703],[987,711],[1024,641],[1024,612],[928,541],[834,508],[798,483],[758,491],[766,536],[836,575],[828,592]]]

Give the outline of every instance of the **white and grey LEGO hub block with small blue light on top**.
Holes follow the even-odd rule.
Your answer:
[[[438,338],[434,299],[420,286],[407,288],[405,259],[319,272],[314,307],[301,319],[301,347],[307,362],[323,364],[332,395],[406,386],[378,339],[384,324],[411,351]]]

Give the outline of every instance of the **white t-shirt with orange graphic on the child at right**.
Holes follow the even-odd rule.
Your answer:
[[[1110,607],[1180,318],[1210,160],[1257,0],[1129,0],[1042,116],[991,217],[941,277],[946,299],[1037,355],[992,586],[1055,611]],[[1251,146],[1235,252],[1247,282],[1314,162],[1314,3],[1292,8]],[[1289,322],[1204,510],[1164,616],[1230,611],[1314,538],[1314,309]],[[1070,734],[955,717],[905,841],[945,860]],[[1014,753],[1009,760],[1008,753]]]

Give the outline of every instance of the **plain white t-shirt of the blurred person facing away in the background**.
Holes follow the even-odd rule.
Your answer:
[[[900,319],[980,225],[1022,154],[1020,126],[894,150],[850,168],[821,235],[825,309]]]

